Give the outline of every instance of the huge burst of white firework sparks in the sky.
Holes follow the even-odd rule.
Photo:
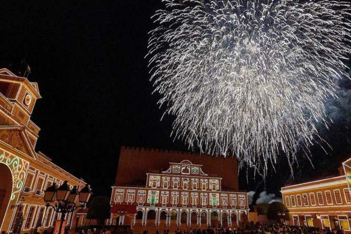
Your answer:
[[[173,136],[267,170],[327,125],[332,77],[348,77],[350,5],[340,1],[164,0],[151,80]],[[195,145],[195,146],[196,146]]]

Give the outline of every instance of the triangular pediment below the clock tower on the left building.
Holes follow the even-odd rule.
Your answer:
[[[20,127],[0,127],[0,140],[24,154],[36,158],[28,136],[20,130]]]

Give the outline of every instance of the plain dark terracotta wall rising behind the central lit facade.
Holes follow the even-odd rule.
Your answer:
[[[144,185],[150,169],[166,170],[169,162],[189,160],[203,165],[202,170],[222,179],[222,189],[238,190],[238,163],[236,159],[194,154],[191,152],[121,147],[115,185]]]

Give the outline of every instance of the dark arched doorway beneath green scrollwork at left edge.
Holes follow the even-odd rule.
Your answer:
[[[0,227],[2,227],[13,185],[11,170],[4,163],[0,163],[0,178]]]

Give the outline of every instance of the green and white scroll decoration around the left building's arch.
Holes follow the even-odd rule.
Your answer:
[[[0,163],[7,165],[12,172],[13,185],[11,201],[13,201],[16,198],[16,195],[21,192],[29,163],[5,151],[0,154]]]

